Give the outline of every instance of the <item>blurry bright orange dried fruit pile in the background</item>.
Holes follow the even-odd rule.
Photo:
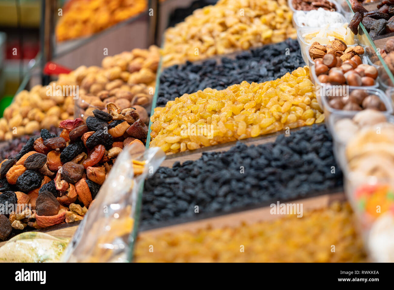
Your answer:
[[[56,26],[56,39],[65,41],[100,32],[147,9],[146,0],[71,0]]]

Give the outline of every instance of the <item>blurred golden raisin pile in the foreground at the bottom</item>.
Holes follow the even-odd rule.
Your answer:
[[[335,248],[334,248],[335,246]],[[243,249],[243,252],[242,252]],[[153,250],[153,251],[152,251]],[[275,221],[141,234],[136,262],[366,262],[348,204]]]

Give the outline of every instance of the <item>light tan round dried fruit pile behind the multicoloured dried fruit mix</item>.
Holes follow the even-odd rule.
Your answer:
[[[143,122],[148,123],[145,108],[152,103],[159,61],[157,46],[136,48],[105,57],[102,67],[82,65],[69,74],[60,74],[48,86],[37,85],[30,92],[20,92],[0,119],[0,141],[58,127],[61,120],[73,116],[85,120],[95,109],[106,110],[109,102],[122,110],[136,108]]]

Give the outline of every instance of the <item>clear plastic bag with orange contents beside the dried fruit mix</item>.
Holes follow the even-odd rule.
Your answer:
[[[130,262],[134,242],[130,233],[139,214],[141,185],[165,158],[158,147],[148,149],[143,154],[132,154],[134,146],[125,147],[117,157],[94,203],[66,248],[62,262]],[[143,161],[143,167],[133,166],[133,163],[142,164]]]

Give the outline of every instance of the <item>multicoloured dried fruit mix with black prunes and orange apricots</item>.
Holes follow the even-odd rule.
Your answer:
[[[0,163],[0,240],[12,229],[82,219],[123,147],[145,150],[148,128],[136,109],[109,103],[107,111],[61,121],[59,136],[43,129]]]

